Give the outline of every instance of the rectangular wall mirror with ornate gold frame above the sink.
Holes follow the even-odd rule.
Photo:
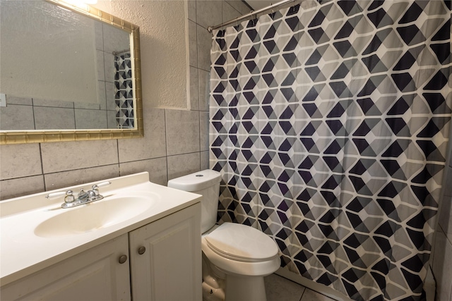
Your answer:
[[[136,25],[60,0],[0,13],[1,144],[143,136]]]

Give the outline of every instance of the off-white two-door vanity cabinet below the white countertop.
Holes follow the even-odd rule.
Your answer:
[[[1,286],[1,300],[202,300],[200,223],[193,204]]]

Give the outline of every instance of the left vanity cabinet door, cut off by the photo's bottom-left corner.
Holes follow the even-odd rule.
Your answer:
[[[127,234],[2,286],[1,300],[131,300],[129,259],[119,264],[124,254]]]

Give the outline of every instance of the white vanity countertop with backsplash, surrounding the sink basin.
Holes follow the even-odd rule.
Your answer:
[[[112,184],[100,188],[100,194],[104,195],[105,198],[96,201],[108,202],[109,198],[144,196],[152,199],[153,202],[148,209],[131,219],[106,228],[66,236],[43,238],[35,234],[35,228],[43,221],[77,208],[61,209],[64,197],[46,199],[45,196],[49,194],[49,191],[47,191],[0,202],[1,285],[16,281],[35,271],[100,245],[102,242],[201,202],[201,195],[150,183],[148,179],[148,173],[136,173],[131,176],[106,179]],[[52,192],[73,190],[74,195],[76,195],[81,188],[85,191],[90,190],[91,185],[103,181],[105,180],[61,188]],[[82,206],[88,207],[90,204]]]

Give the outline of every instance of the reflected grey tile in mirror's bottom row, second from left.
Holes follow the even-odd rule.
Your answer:
[[[35,106],[36,130],[70,130],[76,128],[73,109],[54,108],[51,106]]]

